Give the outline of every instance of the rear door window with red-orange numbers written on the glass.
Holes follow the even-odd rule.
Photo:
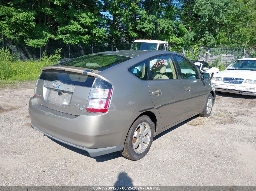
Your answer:
[[[149,68],[153,80],[178,79],[175,65],[171,56],[159,56],[150,59]]]

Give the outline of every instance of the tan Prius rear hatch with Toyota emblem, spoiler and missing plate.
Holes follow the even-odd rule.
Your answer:
[[[72,66],[44,67],[35,88],[38,102],[53,110],[81,115],[98,72]]]

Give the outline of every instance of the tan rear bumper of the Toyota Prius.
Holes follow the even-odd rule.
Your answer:
[[[128,110],[73,116],[44,107],[34,97],[30,98],[28,111],[32,127],[55,140],[88,151],[91,156],[122,150],[135,119],[135,114]]]

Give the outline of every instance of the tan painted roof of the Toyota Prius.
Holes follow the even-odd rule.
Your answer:
[[[130,58],[135,58],[137,56],[141,55],[147,55],[148,57],[151,56],[157,56],[159,54],[178,54],[180,56],[183,56],[179,53],[171,52],[171,51],[160,51],[160,50],[120,50],[120,51],[106,51],[101,53],[95,53],[95,54],[111,54],[111,55],[119,55],[119,56],[126,56]]]

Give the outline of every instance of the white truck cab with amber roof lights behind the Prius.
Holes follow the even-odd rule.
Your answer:
[[[162,40],[135,40],[131,50],[168,50],[168,42]]]

